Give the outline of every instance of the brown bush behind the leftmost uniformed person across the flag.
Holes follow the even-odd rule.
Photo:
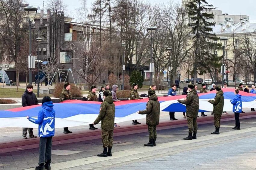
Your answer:
[[[53,96],[59,98],[63,89],[64,83],[58,83],[55,85]],[[83,97],[79,87],[76,87],[75,84],[71,84],[70,92],[72,97]]]

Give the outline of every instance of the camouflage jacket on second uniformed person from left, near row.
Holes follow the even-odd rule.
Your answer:
[[[158,125],[160,115],[160,103],[158,101],[156,94],[150,96],[146,106],[146,110],[139,111],[139,114],[147,114],[146,124],[148,126]]]

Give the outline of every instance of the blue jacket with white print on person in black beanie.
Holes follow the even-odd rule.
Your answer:
[[[55,132],[55,110],[52,102],[42,104],[37,119],[29,117],[29,121],[38,124],[38,135],[42,138],[54,136]]]

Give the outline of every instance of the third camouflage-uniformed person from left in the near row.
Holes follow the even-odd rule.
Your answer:
[[[187,120],[188,120],[188,128],[189,128],[189,135],[186,138],[183,138],[184,140],[192,140],[196,139],[196,133],[197,133],[197,115],[199,110],[199,96],[195,90],[194,84],[188,85],[188,95],[186,96],[185,100],[178,100],[178,102],[186,105],[186,114],[187,114]],[[194,131],[194,134],[192,136],[192,132]]]

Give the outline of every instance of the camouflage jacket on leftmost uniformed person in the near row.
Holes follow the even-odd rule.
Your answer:
[[[100,106],[100,113],[94,124],[98,124],[101,121],[101,129],[113,130],[115,120],[115,104],[112,96],[107,96]]]

